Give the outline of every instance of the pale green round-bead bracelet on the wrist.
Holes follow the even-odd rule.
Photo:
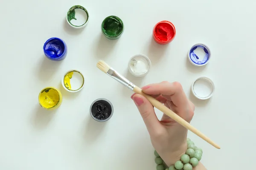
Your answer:
[[[187,139],[188,148],[186,154],[182,155],[180,161],[176,161],[174,165],[167,167],[166,170],[192,170],[193,167],[198,165],[198,162],[202,159],[203,150],[196,147],[194,142],[189,138]],[[163,159],[159,156],[157,151],[154,151],[155,163],[157,164],[157,170],[164,170]]]

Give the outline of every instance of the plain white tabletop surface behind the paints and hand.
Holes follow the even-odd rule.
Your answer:
[[[73,5],[89,12],[82,30],[66,23]],[[1,0],[0,170],[155,170],[154,149],[131,91],[97,69],[99,59],[138,86],[181,82],[196,106],[192,125],[221,146],[217,150],[189,133],[204,150],[203,164],[208,170],[250,169],[256,152],[255,6],[254,0]],[[109,15],[125,24],[119,40],[101,33]],[[168,45],[152,39],[161,20],[176,27]],[[44,56],[44,42],[51,37],[67,43],[67,57],[60,62]],[[195,43],[205,43],[212,52],[206,67],[187,60]],[[152,62],[143,79],[128,73],[128,60],[135,54]],[[70,69],[85,76],[86,85],[77,94],[61,87],[61,77]],[[201,76],[216,87],[207,101],[190,93]],[[38,104],[38,94],[47,86],[63,94],[55,111]],[[114,106],[107,123],[90,117],[90,104],[98,98]]]

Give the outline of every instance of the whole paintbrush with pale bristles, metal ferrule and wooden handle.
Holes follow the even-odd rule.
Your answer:
[[[213,142],[211,139],[209,139],[207,136],[205,136],[203,133],[201,133],[199,130],[197,130],[195,127],[189,124],[189,122],[186,122],[186,120],[182,119],[180,116],[178,116],[176,113],[174,113],[172,110],[167,108],[165,105],[160,103],[157,99],[154,97],[143,93],[142,89],[134,85],[132,82],[130,82],[128,79],[123,77],[121,74],[119,74],[117,71],[115,71],[113,68],[111,68],[107,63],[104,61],[100,60],[97,63],[97,67],[103,71],[104,73],[108,74],[110,77],[115,79],[116,81],[120,82],[122,85],[126,86],[128,89],[131,91],[134,91],[136,94],[141,94],[145,96],[146,99],[148,99],[151,104],[165,113],[167,116],[178,122],[180,125],[185,127],[186,129],[190,130],[191,132],[195,133],[197,136],[199,136],[201,139],[204,139],[206,142],[211,144],[212,146],[216,147],[217,149],[220,149],[221,147]]]

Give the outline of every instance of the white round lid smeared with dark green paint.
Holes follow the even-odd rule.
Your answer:
[[[82,6],[72,6],[67,12],[66,20],[67,23],[73,28],[84,28],[88,23],[89,13]]]

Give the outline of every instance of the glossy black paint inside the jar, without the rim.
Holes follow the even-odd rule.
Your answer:
[[[107,101],[99,100],[93,104],[91,112],[95,119],[105,120],[111,116],[112,108]]]

